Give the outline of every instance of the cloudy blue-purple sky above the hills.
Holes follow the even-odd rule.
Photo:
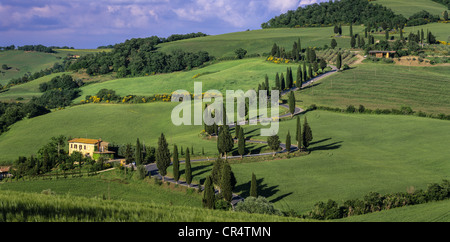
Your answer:
[[[288,10],[324,0],[2,0],[0,46],[97,48],[152,35],[260,29]]]

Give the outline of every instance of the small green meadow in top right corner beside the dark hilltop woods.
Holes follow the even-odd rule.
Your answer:
[[[374,3],[386,6],[394,10],[395,13],[402,14],[407,18],[422,10],[426,10],[431,14],[442,17],[442,13],[447,10],[444,5],[431,0],[377,0]]]

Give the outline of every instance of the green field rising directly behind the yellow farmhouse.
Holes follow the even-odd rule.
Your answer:
[[[59,110],[50,114],[15,123],[0,136],[0,162],[30,156],[52,137],[101,138],[115,144],[135,144],[139,138],[145,145],[156,147],[164,132],[170,147],[194,147],[198,156],[216,157],[215,140],[203,139],[203,126],[175,126],[171,112],[177,104],[88,104]],[[193,110],[193,109],[192,109]],[[261,146],[254,145],[259,150]],[[237,147],[236,147],[237,149]]]

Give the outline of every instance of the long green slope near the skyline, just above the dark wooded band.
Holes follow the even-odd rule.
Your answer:
[[[238,48],[244,48],[248,54],[269,53],[272,46],[276,43],[286,50],[292,50],[294,41],[300,38],[302,48],[330,46],[331,39],[334,36],[334,27],[323,28],[280,28],[252,30],[245,32],[236,32],[223,35],[207,36],[170,43],[161,44],[161,51],[170,52],[175,49],[189,51],[208,51],[216,57],[235,56],[234,51]],[[354,26],[354,32],[363,31],[363,27]],[[343,27],[343,35],[349,35],[349,28]],[[338,46],[341,48],[350,47],[350,38],[337,38]]]

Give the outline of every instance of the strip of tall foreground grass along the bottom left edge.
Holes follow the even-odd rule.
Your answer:
[[[2,192],[7,221],[89,222],[301,222],[305,220],[154,203]],[[28,209],[26,213],[22,211]],[[3,217],[2,217],[3,219]]]

